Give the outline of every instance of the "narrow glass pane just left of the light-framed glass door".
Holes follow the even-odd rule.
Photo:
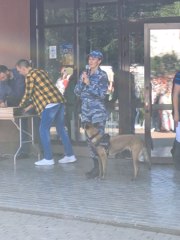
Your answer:
[[[144,29],[128,24],[128,66],[130,89],[130,133],[144,135]],[[127,120],[126,120],[127,121]]]

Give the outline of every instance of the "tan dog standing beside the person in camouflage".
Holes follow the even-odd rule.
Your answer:
[[[109,139],[109,149],[101,145],[102,135],[98,133],[98,129],[93,125],[88,124],[85,127],[87,138],[91,139],[91,143],[96,148],[99,156],[99,177],[104,178],[107,167],[108,153],[117,154],[125,149],[129,149],[132,153],[134,177],[138,175],[139,170],[139,158],[143,156],[144,161],[151,167],[150,157],[145,147],[144,141],[141,137],[133,134],[112,136]]]

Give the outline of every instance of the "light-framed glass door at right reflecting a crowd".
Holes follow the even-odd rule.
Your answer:
[[[172,161],[172,82],[180,69],[180,24],[145,24],[145,140],[152,161]]]

